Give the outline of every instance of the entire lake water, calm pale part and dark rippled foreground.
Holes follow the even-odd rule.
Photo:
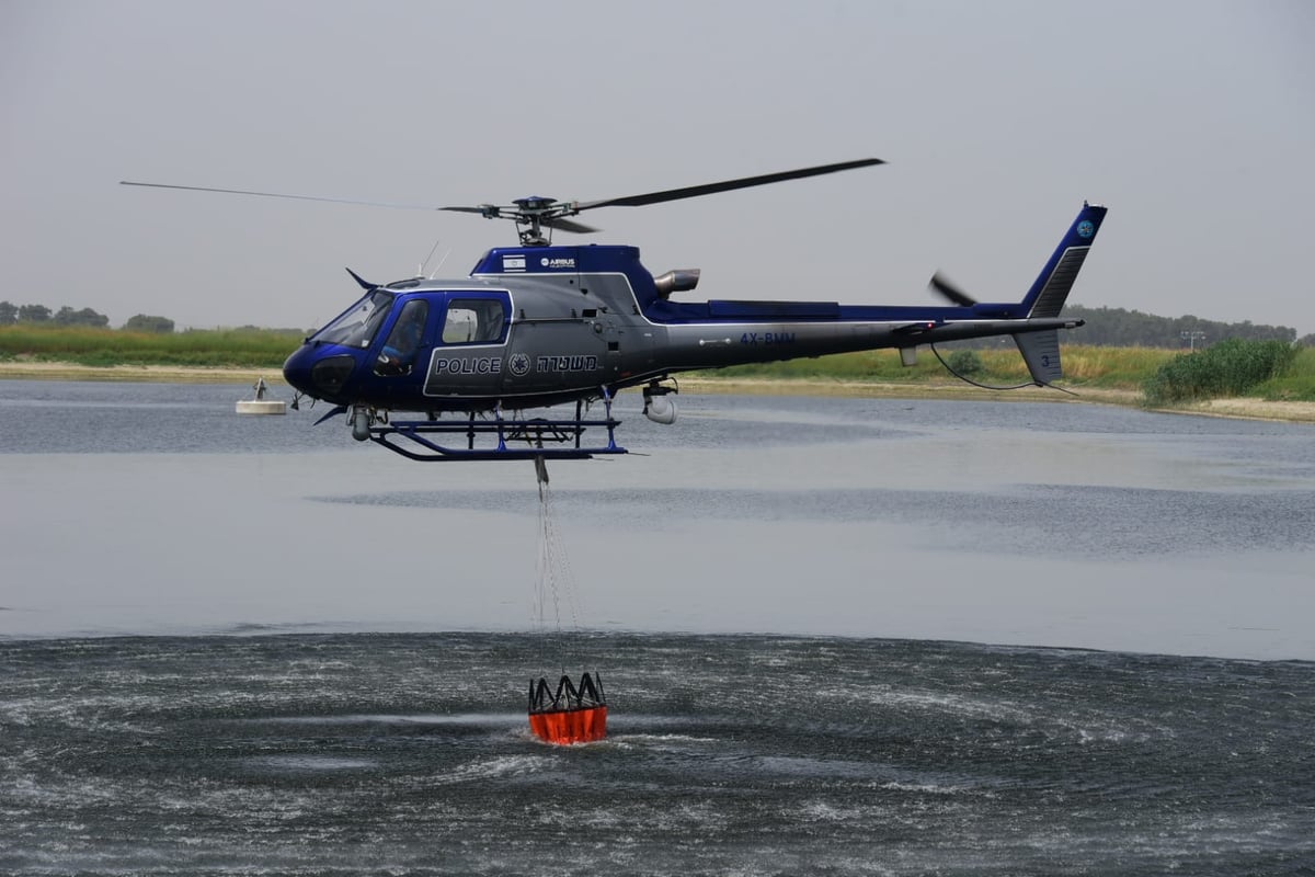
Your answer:
[[[1308,873],[1315,429],[623,397],[529,463],[0,381],[0,872]],[[638,454],[642,452],[643,455]],[[533,739],[602,675],[611,734]]]

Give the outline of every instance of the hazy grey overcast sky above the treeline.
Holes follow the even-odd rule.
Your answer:
[[[0,298],[312,327],[510,224],[596,200],[889,166],[588,216],[697,293],[1022,297],[1082,201],[1089,306],[1315,333],[1315,3],[0,0]],[[434,262],[427,266],[433,272]]]

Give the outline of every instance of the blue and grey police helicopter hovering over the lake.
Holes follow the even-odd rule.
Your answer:
[[[519,246],[494,247],[469,276],[376,284],[350,268],[363,295],[310,334],[283,366],[301,398],[346,415],[356,440],[413,460],[588,459],[626,454],[613,401],[640,388],[643,413],[673,423],[676,375],[861,350],[898,348],[905,366],[922,344],[1009,335],[1032,383],[1063,376],[1060,316],[1095,241],[1106,208],[1084,202],[1035,283],[1015,302],[980,302],[939,273],[931,288],[949,305],[842,305],[823,301],[686,301],[697,268],[654,275],[639,250],[560,246],[552,233],[598,229],[572,217],[608,206],[644,206],[884,164],[864,158],[596,201],[530,196],[509,205],[423,208],[515,224]],[[347,204],[283,195],[122,180],[124,185]],[[413,206],[413,205],[379,205]],[[939,356],[939,354],[938,354]],[[967,380],[967,379],[965,379]],[[604,415],[590,417],[602,402]],[[573,415],[552,409],[573,405]],[[540,415],[537,414],[542,410]],[[586,430],[605,440],[584,439]]]

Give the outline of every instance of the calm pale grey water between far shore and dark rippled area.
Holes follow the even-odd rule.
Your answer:
[[[527,463],[247,387],[0,381],[0,635],[517,630]],[[623,396],[552,464],[584,622],[1315,657],[1315,431],[1095,405]]]

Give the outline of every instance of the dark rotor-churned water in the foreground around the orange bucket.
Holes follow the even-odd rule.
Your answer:
[[[0,644],[0,869],[1298,874],[1310,664],[608,634],[551,747],[514,634]],[[583,661],[590,657],[581,656]]]

